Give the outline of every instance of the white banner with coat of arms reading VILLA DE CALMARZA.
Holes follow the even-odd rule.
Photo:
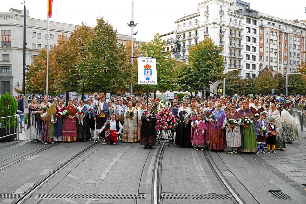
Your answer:
[[[138,84],[157,84],[156,58],[137,57]]]

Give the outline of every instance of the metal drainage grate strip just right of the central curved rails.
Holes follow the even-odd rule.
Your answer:
[[[228,194],[162,194],[162,199],[231,199]]]

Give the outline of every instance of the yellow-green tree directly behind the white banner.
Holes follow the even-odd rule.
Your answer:
[[[148,86],[149,92],[154,90],[160,90],[165,92],[167,90],[173,90],[175,88],[177,71],[176,62],[174,59],[169,59],[169,52],[162,53],[164,42],[161,39],[159,33],[149,43],[142,43],[140,48],[140,54],[144,57],[156,57],[156,72],[157,72],[157,85]],[[135,72],[134,82],[138,81],[138,72]],[[135,83],[133,86],[136,92],[147,92],[147,85],[138,85]]]

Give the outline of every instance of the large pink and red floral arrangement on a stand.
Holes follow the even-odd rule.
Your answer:
[[[174,114],[168,109],[167,106],[164,106],[162,109],[155,114],[156,116],[156,124],[155,130],[167,130],[171,129],[175,131],[177,126],[178,119],[174,116]]]

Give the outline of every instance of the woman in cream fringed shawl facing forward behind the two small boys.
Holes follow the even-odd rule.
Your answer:
[[[266,119],[269,120],[269,118],[273,117],[274,118],[274,124],[277,127],[282,127],[281,114],[275,108],[276,108],[275,103],[271,103],[270,110],[267,113],[267,118]],[[286,144],[285,144],[284,131],[283,131],[282,128],[278,128],[278,133],[276,133],[275,148],[278,148],[280,150],[284,150],[285,147],[286,147]]]

